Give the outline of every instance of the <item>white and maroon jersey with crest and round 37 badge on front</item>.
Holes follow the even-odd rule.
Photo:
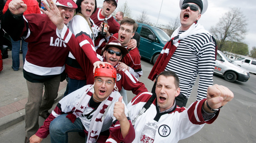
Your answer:
[[[131,122],[150,99],[152,93],[140,93],[127,105]],[[202,106],[206,99],[192,103],[188,109],[174,106],[170,111],[159,112],[156,99],[150,107],[140,115],[134,124],[135,139],[132,143],[150,142],[164,143],[168,140],[177,143],[198,132],[205,123],[212,124],[218,117],[217,112],[210,120],[204,121]]]

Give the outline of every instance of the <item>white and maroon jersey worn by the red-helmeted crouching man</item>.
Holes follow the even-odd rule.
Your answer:
[[[80,89],[77,89],[76,91],[68,94],[64,98],[62,98],[60,100],[60,102],[57,104],[57,106],[55,107],[55,109],[52,111],[50,116],[44,121],[44,125],[38,129],[38,131],[36,132],[36,136],[43,138],[43,139],[46,138],[48,136],[48,134],[50,133],[49,126],[50,126],[51,121],[53,119],[55,119],[56,117],[60,116],[61,114],[72,112],[72,110],[75,108],[75,106],[80,101],[81,96],[85,92],[88,92],[87,90],[89,89],[90,86],[92,86],[92,85],[86,85],[86,86],[84,86]],[[93,89],[91,89],[87,94],[88,95],[90,94],[90,96],[92,96],[92,90]],[[113,116],[114,105],[116,102],[118,102],[118,98],[121,95],[117,91],[113,91],[112,94],[115,94],[116,98],[113,99],[112,104],[109,105],[108,110],[105,110],[107,113],[102,113],[106,116],[104,117],[103,125],[102,125],[101,131],[100,131],[101,133],[98,137],[97,142],[105,143],[107,139],[108,139],[107,142],[112,142],[113,140],[118,139],[118,140],[121,140],[122,142],[131,143],[132,140],[134,139],[135,134],[134,134],[134,129],[131,124],[131,121],[129,120],[128,110],[127,110],[126,106],[124,106],[125,114],[130,123],[130,130],[129,130],[128,134],[125,136],[125,138],[123,138],[119,121],[116,120],[116,117]],[[124,103],[124,101],[122,101],[122,102]],[[84,115],[89,114],[94,108],[90,107],[89,103],[83,108],[85,108],[85,110],[79,116],[79,118],[81,119],[81,122],[84,125],[84,128],[85,128],[84,132],[85,132],[86,136],[88,137],[88,130],[90,127],[91,119],[93,117],[91,117],[91,118],[89,117],[89,119],[88,119]],[[102,107],[102,108],[104,108],[104,107]],[[92,112],[90,116],[97,116],[97,115],[94,115],[94,113],[95,113],[95,111]],[[111,136],[109,136],[108,130],[109,130]]]

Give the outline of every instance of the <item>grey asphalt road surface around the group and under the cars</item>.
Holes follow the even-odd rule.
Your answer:
[[[153,82],[149,80],[148,74],[153,67],[148,61],[141,61],[143,75],[140,81],[143,82],[149,91]],[[256,139],[256,75],[251,74],[248,82],[235,81],[230,83],[223,77],[214,75],[213,83],[228,87],[235,95],[235,98],[224,106],[217,120],[213,124],[204,125],[203,129],[193,136],[180,140],[179,143],[254,143]],[[198,78],[196,85],[198,84]],[[196,100],[196,89],[194,86],[188,100],[187,107]],[[127,92],[128,101],[135,95]],[[44,120],[39,117],[40,125]],[[15,124],[0,132],[1,143],[20,143],[25,139],[25,122]],[[69,143],[84,142],[85,140],[78,133],[68,133]],[[49,136],[43,139],[42,143],[49,143]],[[167,142],[167,141],[166,141]]]

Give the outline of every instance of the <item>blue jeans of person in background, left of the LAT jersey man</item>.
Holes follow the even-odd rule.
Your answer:
[[[18,71],[20,68],[20,41],[21,41],[21,48],[22,48],[23,65],[25,63],[25,57],[28,51],[27,42],[25,42],[24,40],[19,40],[19,41],[12,40],[12,68],[14,71]]]

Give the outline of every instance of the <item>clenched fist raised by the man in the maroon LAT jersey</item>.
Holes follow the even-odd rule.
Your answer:
[[[27,4],[24,4],[21,0],[12,0],[8,6],[9,10],[14,15],[20,15],[27,10]]]

